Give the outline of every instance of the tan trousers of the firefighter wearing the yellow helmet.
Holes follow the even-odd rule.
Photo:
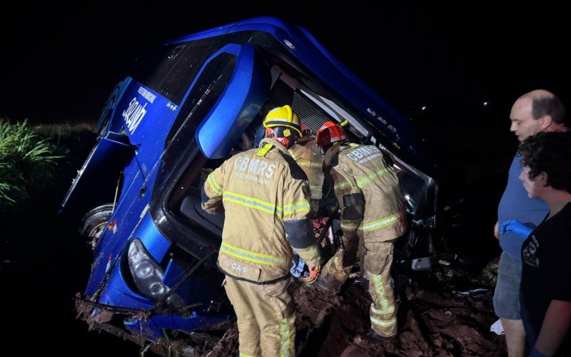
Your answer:
[[[259,285],[226,277],[238,319],[240,356],[295,356],[295,309],[290,278]]]

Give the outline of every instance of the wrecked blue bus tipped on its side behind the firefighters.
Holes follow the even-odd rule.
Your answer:
[[[201,209],[201,186],[259,139],[268,107],[285,104],[314,133],[347,120],[353,141],[393,153],[410,219],[400,258],[435,253],[438,185],[413,127],[302,27],[248,19],[158,44],[103,107],[61,207],[86,213],[94,261],[76,307],[90,328],[184,355],[204,331],[228,327],[223,216]]]

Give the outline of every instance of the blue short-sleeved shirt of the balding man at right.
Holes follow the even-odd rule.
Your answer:
[[[549,212],[549,206],[538,198],[529,198],[520,180],[522,159],[519,153],[515,154],[507,176],[507,186],[497,206],[497,221],[502,223],[515,218],[530,228],[535,228]],[[525,238],[515,233],[500,234],[500,247],[514,259],[521,259],[521,248]]]

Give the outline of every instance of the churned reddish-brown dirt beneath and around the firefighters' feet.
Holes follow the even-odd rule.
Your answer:
[[[372,341],[369,299],[355,280],[333,294],[293,285],[298,356],[502,356],[505,339],[490,332],[497,319],[492,292],[458,293],[452,286],[419,286],[398,279],[398,336]],[[238,356],[238,329],[201,356]]]

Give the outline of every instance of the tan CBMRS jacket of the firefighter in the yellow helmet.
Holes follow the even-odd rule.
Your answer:
[[[321,263],[313,238],[305,174],[273,139],[226,160],[208,175],[202,208],[225,211],[218,268],[253,283],[288,278],[292,248],[310,268]]]

